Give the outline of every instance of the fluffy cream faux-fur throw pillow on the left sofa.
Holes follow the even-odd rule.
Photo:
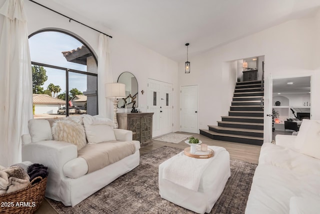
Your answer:
[[[54,140],[64,141],[76,145],[77,150],[86,144],[84,128],[73,120],[57,120],[52,125]]]

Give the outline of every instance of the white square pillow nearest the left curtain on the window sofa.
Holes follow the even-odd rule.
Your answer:
[[[52,140],[51,127],[47,120],[32,119],[28,121],[29,134],[32,142]]]

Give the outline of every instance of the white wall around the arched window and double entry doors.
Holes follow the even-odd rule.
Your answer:
[[[0,0],[0,6],[2,6],[3,3],[4,0]],[[93,51],[95,56],[97,56],[98,32],[81,26],[75,22],[69,22],[68,19],[39,7],[29,1],[24,1],[24,6],[29,34],[42,29],[59,29],[66,31],[81,39]],[[0,29],[2,29],[2,16],[0,17]],[[82,22],[88,24],[85,20]],[[93,25],[96,25],[96,23]],[[141,90],[144,90],[145,92],[147,91],[147,78],[172,83],[173,88],[175,89],[173,93],[173,105],[178,106],[179,87],[177,86],[176,62],[139,45],[130,38],[127,38],[117,32],[110,31],[103,26],[98,26],[98,29],[113,37],[109,40],[113,82],[116,82],[118,76],[124,71],[129,71],[136,77],[139,91],[139,110],[146,111],[147,95],[146,93],[142,95]],[[175,116],[173,118],[173,131],[177,131],[179,127],[177,110],[178,108],[174,108],[173,115]],[[110,111],[112,111],[112,109],[110,109]]]

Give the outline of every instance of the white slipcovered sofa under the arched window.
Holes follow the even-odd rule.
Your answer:
[[[132,140],[131,131],[112,130],[117,141]],[[132,141],[135,145],[133,154],[101,169],[87,173],[86,160],[78,157],[77,147],[68,142],[52,140],[50,138],[50,126],[37,124],[34,127],[33,124],[32,127],[29,123],[29,132],[30,135],[22,136],[22,160],[41,163],[48,167],[49,175],[45,196],[61,201],[66,206],[76,205],[117,177],[139,165],[139,141]],[[105,134],[103,131],[99,133],[100,135]]]

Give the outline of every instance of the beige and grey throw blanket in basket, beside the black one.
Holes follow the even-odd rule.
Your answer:
[[[0,167],[0,195],[25,188],[29,183],[30,177],[21,167]]]

